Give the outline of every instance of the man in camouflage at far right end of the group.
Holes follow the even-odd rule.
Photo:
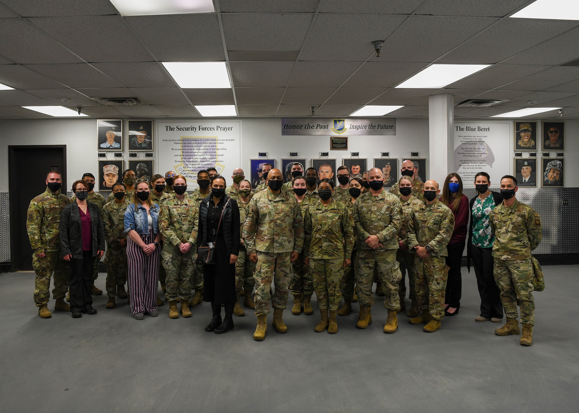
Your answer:
[[[494,231],[493,261],[494,280],[501,290],[501,301],[507,322],[497,335],[519,334],[516,305],[521,307],[523,334],[521,345],[533,343],[535,302],[533,299],[534,276],[531,251],[543,238],[541,217],[529,205],[515,198],[516,178],[511,175],[501,179],[503,203],[489,215],[490,227]]]

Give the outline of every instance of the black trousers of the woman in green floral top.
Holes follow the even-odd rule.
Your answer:
[[[503,318],[500,290],[494,281],[493,249],[471,245],[472,264],[481,296],[481,317]]]

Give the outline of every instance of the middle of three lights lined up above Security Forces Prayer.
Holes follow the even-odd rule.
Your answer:
[[[183,89],[229,89],[225,62],[163,62]]]

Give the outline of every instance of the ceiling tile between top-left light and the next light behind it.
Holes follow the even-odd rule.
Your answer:
[[[225,61],[216,14],[165,14],[126,19],[159,61]]]

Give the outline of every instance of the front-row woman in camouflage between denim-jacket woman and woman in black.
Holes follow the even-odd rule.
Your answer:
[[[161,257],[167,273],[167,301],[169,318],[179,318],[177,299],[181,298],[181,315],[190,317],[191,276],[195,271],[197,256],[197,230],[199,207],[185,193],[187,181],[175,176],[175,194],[165,201],[159,213],[159,231],[163,234]],[[180,194],[179,194],[180,192]]]

